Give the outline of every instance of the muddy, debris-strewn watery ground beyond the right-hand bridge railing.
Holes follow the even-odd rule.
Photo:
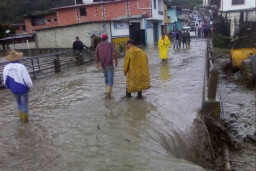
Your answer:
[[[219,94],[224,118],[239,150],[230,152],[234,170],[255,170],[255,143],[244,141],[255,132],[255,84],[248,86],[242,72],[232,73],[230,49],[213,48],[215,66],[219,69]]]

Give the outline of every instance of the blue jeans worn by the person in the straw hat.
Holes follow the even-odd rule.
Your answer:
[[[14,94],[15,100],[17,102],[17,109],[21,110],[22,113],[29,112],[29,94],[28,92],[24,94]]]

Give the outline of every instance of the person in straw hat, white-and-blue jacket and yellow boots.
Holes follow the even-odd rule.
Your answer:
[[[10,89],[17,102],[18,116],[25,123],[29,120],[29,90],[33,86],[28,70],[19,62],[23,53],[11,49],[6,60],[10,61],[4,67],[3,76],[6,88]]]

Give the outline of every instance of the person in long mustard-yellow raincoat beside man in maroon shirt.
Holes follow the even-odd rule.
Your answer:
[[[134,45],[133,40],[127,41],[126,45],[128,50],[123,68],[126,76],[126,97],[130,98],[132,92],[138,92],[138,98],[141,99],[142,90],[151,87],[147,55]]]

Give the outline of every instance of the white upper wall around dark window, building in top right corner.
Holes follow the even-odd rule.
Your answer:
[[[255,0],[244,0],[245,4],[232,5],[232,0],[221,0],[220,11],[242,10],[255,8]]]

